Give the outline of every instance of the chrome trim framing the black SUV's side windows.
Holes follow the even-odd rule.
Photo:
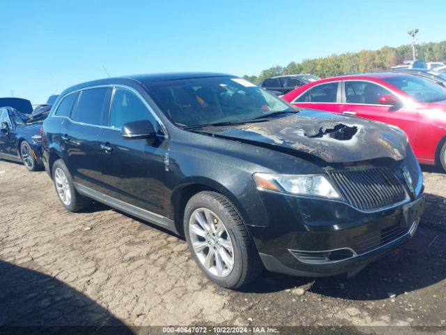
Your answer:
[[[54,107],[54,110],[52,110],[50,116],[51,117],[59,117],[61,119],[68,119],[70,120],[70,122],[72,122],[73,124],[80,124],[82,126],[91,126],[91,127],[96,127],[96,128],[105,128],[105,129],[112,129],[114,131],[121,131],[121,129],[118,128],[114,128],[114,127],[110,127],[110,126],[98,126],[97,124],[86,124],[84,122],[79,122],[79,121],[75,121],[73,119],[71,119],[70,117],[65,117],[65,116],[59,116],[56,115],[56,110],[59,108],[59,105],[61,104],[61,102],[63,101],[63,99],[66,98],[66,96],[69,96],[70,94],[75,94],[79,91],[85,91],[86,89],[98,89],[100,87],[112,87],[113,88],[113,92],[112,92],[112,96],[110,98],[110,105],[109,105],[109,117],[110,117],[110,110],[112,109],[112,103],[113,103],[113,98],[114,98],[114,92],[116,91],[116,87],[121,87],[123,89],[128,89],[129,91],[131,91],[132,93],[134,93],[143,103],[144,105],[147,107],[148,112],[150,112],[153,117],[155,118],[155,120],[158,122],[158,124],[160,124],[160,128],[162,130],[162,133],[164,135],[164,137],[169,138],[169,133],[167,132],[167,128],[166,126],[164,126],[164,124],[162,123],[160,117],[158,117],[158,115],[155,113],[155,111],[153,110],[153,108],[148,105],[146,99],[144,99],[141,94],[139,94],[139,92],[134,89],[133,87],[130,87],[128,85],[125,84],[102,84],[102,85],[94,85],[94,86],[89,86],[89,87],[82,87],[82,89],[75,89],[74,91],[70,91],[67,94],[65,94],[57,103],[56,107]],[[80,95],[79,95],[80,97]],[[74,105],[73,105],[74,107]]]

